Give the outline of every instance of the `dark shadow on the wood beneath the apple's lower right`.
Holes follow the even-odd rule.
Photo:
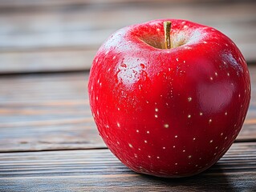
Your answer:
[[[169,187],[169,190],[175,191],[255,191],[254,182],[238,180],[236,171],[223,170],[220,163],[205,170],[201,174],[188,178],[157,178],[150,175],[141,174],[141,179],[147,179],[152,182],[152,189],[161,186]]]

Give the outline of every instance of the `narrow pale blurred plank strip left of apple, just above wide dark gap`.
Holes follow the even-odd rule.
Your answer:
[[[0,74],[89,70],[95,54],[83,48],[0,53]]]

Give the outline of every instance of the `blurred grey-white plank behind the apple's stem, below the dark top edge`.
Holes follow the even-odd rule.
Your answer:
[[[171,3],[152,6],[145,3],[130,6],[95,6],[74,9],[67,6],[54,10],[26,10],[2,13],[0,24],[1,50],[37,47],[98,47],[112,32],[134,23],[156,18],[184,18],[216,27],[234,42],[254,42],[256,2],[233,4],[199,4],[189,6]],[[229,11],[227,11],[229,10]],[[143,13],[143,14],[142,14]],[[127,15],[124,20],[124,15]],[[203,17],[202,17],[203,15]],[[94,19],[91,19],[94,18]],[[100,21],[100,22],[98,22]]]

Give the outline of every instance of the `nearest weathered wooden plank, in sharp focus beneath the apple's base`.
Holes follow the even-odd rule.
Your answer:
[[[254,191],[256,142],[234,143],[217,164],[191,178],[136,174],[109,150],[0,154],[1,191]]]

